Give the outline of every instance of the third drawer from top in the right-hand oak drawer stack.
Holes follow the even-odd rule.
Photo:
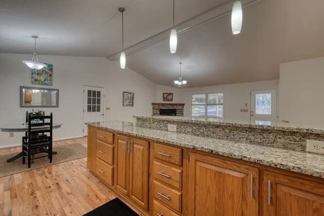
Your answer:
[[[154,181],[154,199],[181,212],[181,192]]]

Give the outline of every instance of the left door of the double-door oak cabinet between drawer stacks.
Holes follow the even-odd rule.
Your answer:
[[[129,153],[127,145],[129,137],[115,136],[115,187],[119,192],[129,195]]]

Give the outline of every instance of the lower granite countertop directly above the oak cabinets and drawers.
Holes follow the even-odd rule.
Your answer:
[[[324,178],[324,155],[159,131],[133,122],[86,123],[110,131]]]

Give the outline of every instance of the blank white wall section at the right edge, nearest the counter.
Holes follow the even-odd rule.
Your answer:
[[[324,124],[324,57],[280,64],[279,118]]]

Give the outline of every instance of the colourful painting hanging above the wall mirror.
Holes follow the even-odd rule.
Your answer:
[[[53,65],[46,64],[41,70],[31,70],[31,84],[53,85]]]

